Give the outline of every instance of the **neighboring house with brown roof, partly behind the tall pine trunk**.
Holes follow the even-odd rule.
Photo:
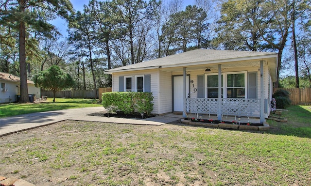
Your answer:
[[[17,101],[20,94],[20,78],[12,74],[0,72],[0,103],[11,103]],[[40,88],[35,87],[34,81],[27,80],[28,93],[40,97]]]

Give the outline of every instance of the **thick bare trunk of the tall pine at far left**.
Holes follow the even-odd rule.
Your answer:
[[[18,0],[19,11],[25,12],[25,0]],[[25,47],[25,23],[19,23],[19,72],[20,72],[20,100],[19,103],[29,102],[27,86],[27,65],[26,65],[26,47]]]

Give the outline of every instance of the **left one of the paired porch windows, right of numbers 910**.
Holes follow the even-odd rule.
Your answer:
[[[222,75],[222,85],[223,85],[223,75]],[[217,75],[207,75],[207,85],[206,93],[208,98],[218,97],[218,74]],[[222,97],[223,97],[222,88]]]

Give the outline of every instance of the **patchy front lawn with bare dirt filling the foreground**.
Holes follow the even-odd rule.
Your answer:
[[[179,123],[63,121],[1,137],[0,175],[37,186],[309,185],[310,139],[282,140],[305,148],[295,155],[304,164],[292,165],[280,160],[293,150],[274,157],[278,149],[265,149],[272,137]]]

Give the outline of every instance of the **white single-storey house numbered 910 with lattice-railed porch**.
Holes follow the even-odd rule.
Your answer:
[[[269,116],[277,54],[196,49],[106,70],[113,92],[152,92],[153,113]]]

